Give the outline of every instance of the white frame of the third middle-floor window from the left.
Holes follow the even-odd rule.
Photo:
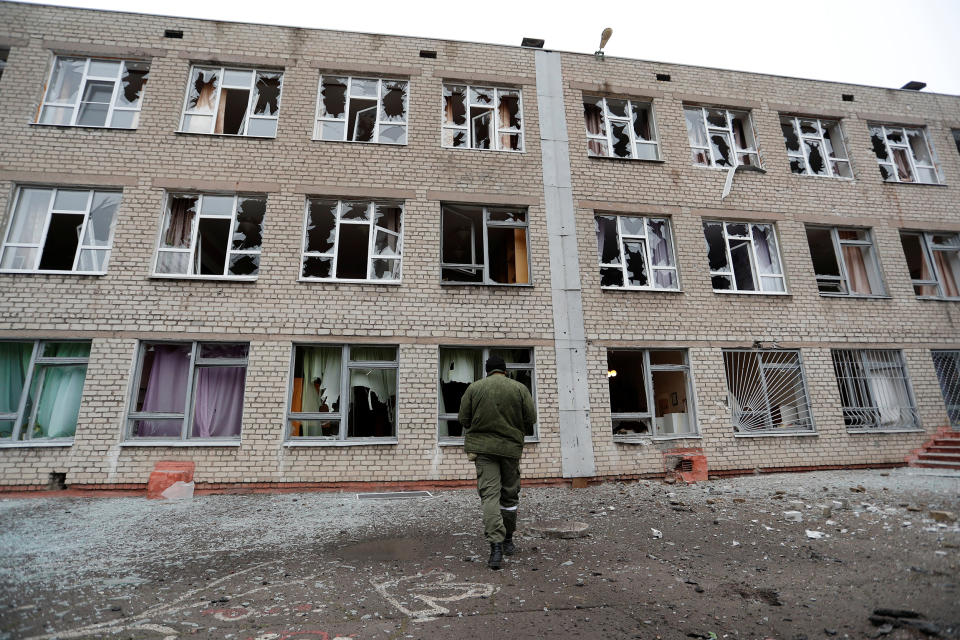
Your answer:
[[[333,248],[330,252],[324,253],[321,251],[307,251],[307,226],[310,224],[310,202],[312,200],[319,200],[324,202],[336,202],[336,221],[334,222],[334,239],[333,239]],[[342,218],[345,205],[347,204],[356,204],[358,202],[367,203],[367,220],[345,220]],[[376,224],[376,207],[377,205],[387,205],[390,207],[398,207],[400,209],[400,231],[391,231],[384,227],[377,226]],[[301,255],[300,255],[300,277],[299,279],[303,282],[367,282],[373,284],[399,284],[403,277],[403,224],[404,218],[406,217],[406,210],[402,202],[392,201],[392,200],[364,200],[364,199],[348,199],[348,200],[337,200],[335,198],[323,198],[323,197],[308,197],[306,208],[303,214],[303,243],[301,245]],[[340,255],[340,227],[342,225],[365,225],[369,227],[367,233],[367,277],[366,278],[337,278],[337,257]],[[384,233],[388,236],[394,237],[397,239],[397,254],[396,256],[378,256],[374,254],[374,248],[376,246],[376,239],[378,233]],[[332,274],[328,278],[316,278],[312,276],[303,275],[303,265],[306,262],[307,258],[329,258],[330,263],[330,273]],[[376,260],[389,260],[391,262],[396,262],[399,267],[396,278],[384,278],[378,279],[373,277],[373,263]]]

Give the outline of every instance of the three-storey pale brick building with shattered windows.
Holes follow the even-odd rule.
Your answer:
[[[903,464],[960,421],[956,96],[0,16],[4,489],[464,484],[491,353],[529,482]]]

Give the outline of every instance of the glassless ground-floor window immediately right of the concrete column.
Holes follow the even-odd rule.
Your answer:
[[[686,350],[607,351],[615,438],[697,433]]]

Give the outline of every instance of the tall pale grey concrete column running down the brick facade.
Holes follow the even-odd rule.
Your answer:
[[[537,106],[543,193],[550,246],[554,342],[560,400],[560,451],[565,478],[596,475],[587,394],[586,335],[580,290],[570,149],[560,55],[537,51]]]

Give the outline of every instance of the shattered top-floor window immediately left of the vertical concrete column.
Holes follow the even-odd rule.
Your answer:
[[[519,89],[443,85],[443,146],[523,151]]]

